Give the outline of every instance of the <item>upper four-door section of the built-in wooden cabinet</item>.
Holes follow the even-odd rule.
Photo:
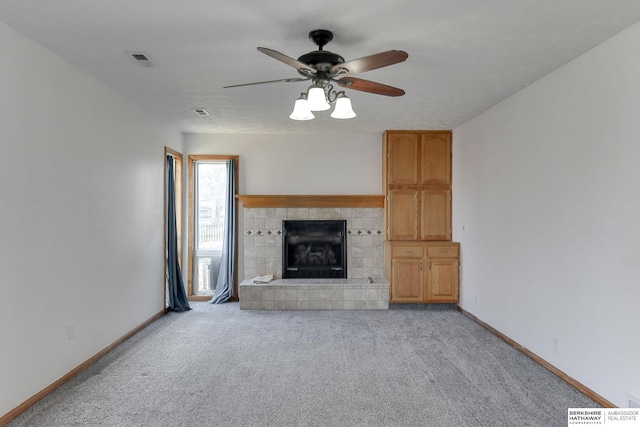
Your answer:
[[[451,240],[451,132],[384,135],[387,240]]]

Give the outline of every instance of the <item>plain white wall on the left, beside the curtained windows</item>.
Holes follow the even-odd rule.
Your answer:
[[[163,147],[182,142],[1,23],[0,51],[2,416],[163,309]]]

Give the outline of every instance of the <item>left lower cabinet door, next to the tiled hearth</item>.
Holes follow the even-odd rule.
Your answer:
[[[391,260],[391,302],[424,301],[423,267],[419,258]]]

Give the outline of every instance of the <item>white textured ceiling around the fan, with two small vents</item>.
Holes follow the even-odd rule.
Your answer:
[[[0,20],[184,132],[381,133],[461,125],[640,21],[640,1],[0,0]],[[308,82],[223,89],[299,77],[256,47],[297,58],[316,50],[308,33],[320,28],[347,61],[405,50],[406,62],[356,77],[406,95],[347,90],[355,119],[296,122]]]

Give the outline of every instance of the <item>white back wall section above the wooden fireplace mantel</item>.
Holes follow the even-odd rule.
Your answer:
[[[380,134],[186,134],[184,143],[185,160],[239,155],[241,194],[382,194]]]

